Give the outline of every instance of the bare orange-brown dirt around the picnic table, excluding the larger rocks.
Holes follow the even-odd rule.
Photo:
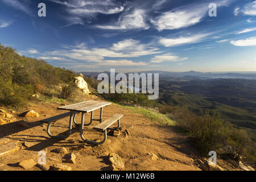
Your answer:
[[[98,98],[88,98],[99,100]],[[79,135],[79,129],[64,140],[49,138],[46,133],[46,124],[40,119],[64,113],[57,110],[59,104],[32,104],[26,109],[33,109],[40,114],[39,118],[20,118],[20,121],[0,126],[0,139],[8,138],[18,141],[19,150],[0,156],[0,170],[24,170],[18,163],[24,159],[38,161],[38,152],[46,152],[46,163],[64,164],[72,170],[109,170],[108,155],[114,152],[125,162],[124,170],[201,170],[193,159],[198,155],[195,148],[189,144],[187,137],[175,133],[171,127],[152,122],[142,114],[135,114],[131,110],[112,104],[104,107],[103,119],[114,114],[123,114],[121,118],[120,135],[108,136],[108,140],[101,146],[84,144]],[[100,111],[94,112],[94,118],[99,117]],[[90,114],[86,115],[85,122],[89,121]],[[25,121],[21,121],[21,120]],[[80,120],[77,116],[77,122]],[[52,126],[52,134],[67,130],[68,118],[57,121]],[[98,122],[94,121],[85,127],[84,135],[88,139],[102,138],[102,133],[92,130]],[[129,135],[125,134],[129,131]],[[65,154],[53,152],[56,148],[65,147],[68,152],[76,155],[76,164],[65,163]],[[155,154],[156,157],[152,157]],[[40,170],[34,166],[28,170]]]

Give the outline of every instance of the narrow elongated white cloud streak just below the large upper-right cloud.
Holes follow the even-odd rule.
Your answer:
[[[197,43],[203,40],[210,34],[197,34],[193,36],[180,37],[180,38],[160,38],[159,43],[165,47],[181,46],[183,44]]]

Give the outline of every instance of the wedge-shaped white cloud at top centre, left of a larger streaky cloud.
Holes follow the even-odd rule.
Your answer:
[[[117,23],[112,25],[97,25],[96,27],[108,30],[147,30],[150,26],[145,22],[145,16],[145,10],[134,10],[131,14],[121,15]]]

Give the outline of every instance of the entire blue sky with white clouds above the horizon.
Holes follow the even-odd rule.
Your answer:
[[[0,43],[77,72],[256,71],[256,1],[0,0]]]

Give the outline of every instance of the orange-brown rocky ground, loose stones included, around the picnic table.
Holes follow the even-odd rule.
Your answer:
[[[100,100],[85,96],[83,100]],[[80,100],[82,101],[82,100]],[[73,133],[66,139],[52,139],[46,133],[47,124],[40,120],[64,111],[56,108],[61,104],[31,102],[23,111],[34,110],[30,115],[20,111],[0,110],[0,170],[240,170],[232,163],[218,160],[209,166],[199,152],[191,146],[189,138],[166,125],[152,122],[142,114],[112,104],[104,107],[103,119],[123,114],[121,129],[110,133],[100,145],[85,144],[74,125]],[[3,108],[5,109],[5,108]],[[6,114],[11,114],[6,117]],[[94,112],[99,117],[100,110]],[[90,114],[85,121],[89,122]],[[67,131],[68,118],[52,125],[52,134]],[[80,121],[80,115],[77,116]],[[86,139],[97,140],[102,133],[93,130],[98,122],[84,128]],[[43,152],[42,152],[43,151]],[[45,152],[45,153],[44,153]],[[39,165],[39,158],[46,155],[46,165]],[[41,155],[41,157],[40,157]],[[41,160],[42,161],[42,160]]]

